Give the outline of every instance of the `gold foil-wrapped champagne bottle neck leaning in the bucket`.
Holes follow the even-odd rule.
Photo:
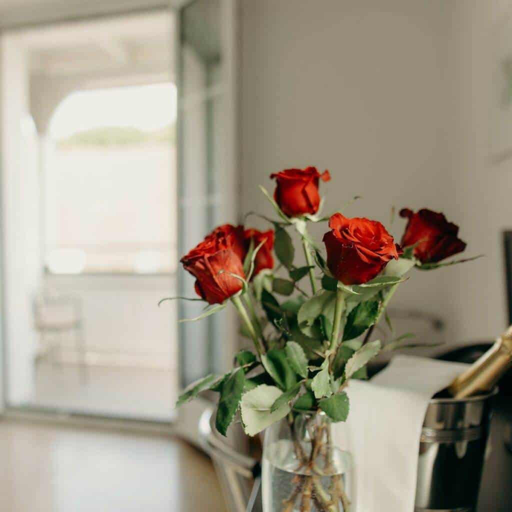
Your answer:
[[[456,377],[448,387],[454,398],[466,398],[491,391],[512,367],[512,326],[477,361]]]

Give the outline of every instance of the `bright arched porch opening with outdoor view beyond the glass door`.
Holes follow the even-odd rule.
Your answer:
[[[62,101],[46,162],[51,272],[175,271],[175,121],[172,83]]]

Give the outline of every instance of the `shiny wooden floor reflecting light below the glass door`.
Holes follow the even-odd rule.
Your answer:
[[[2,512],[226,512],[209,459],[181,440],[0,421]]]

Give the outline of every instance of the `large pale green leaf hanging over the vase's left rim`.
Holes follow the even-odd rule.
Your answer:
[[[278,410],[271,412],[272,405],[282,394],[279,388],[262,384],[242,395],[240,411],[247,435],[258,434],[290,412],[288,403],[283,403]]]

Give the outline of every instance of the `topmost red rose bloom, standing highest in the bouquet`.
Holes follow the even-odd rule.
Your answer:
[[[274,199],[288,217],[316,214],[320,205],[318,179],[329,181],[329,171],[320,174],[316,167],[305,169],[286,169],[271,174],[278,185],[275,187]]]

